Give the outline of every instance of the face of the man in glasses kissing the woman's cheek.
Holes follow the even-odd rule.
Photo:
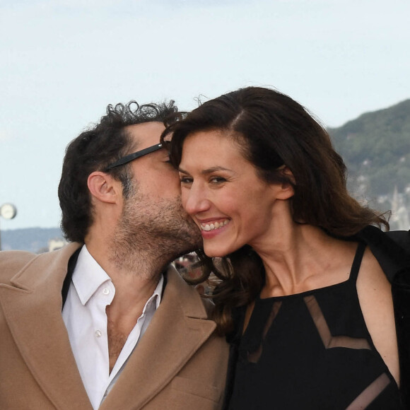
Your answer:
[[[146,122],[127,128],[140,151],[159,143],[165,129],[160,122]],[[116,242],[136,247],[169,253],[171,259],[180,254],[198,249],[201,244],[200,231],[182,208],[180,178],[169,162],[168,152],[160,149],[133,160],[134,192],[124,199],[122,217],[116,232]]]

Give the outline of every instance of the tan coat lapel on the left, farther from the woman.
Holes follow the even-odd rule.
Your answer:
[[[40,254],[0,286],[0,303],[16,346],[57,409],[90,409],[61,316],[61,287],[78,244]]]

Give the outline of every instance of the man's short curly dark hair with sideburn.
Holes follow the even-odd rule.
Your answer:
[[[71,141],[66,148],[58,190],[61,229],[67,240],[84,242],[93,223],[88,175],[105,170],[107,165],[130,153],[133,141],[126,127],[144,122],[165,122],[175,112],[177,106],[173,100],[162,104],[139,105],[131,101],[108,105],[107,114],[101,117],[98,124]],[[113,168],[110,174],[122,182],[123,195],[127,198],[132,186],[129,165]]]

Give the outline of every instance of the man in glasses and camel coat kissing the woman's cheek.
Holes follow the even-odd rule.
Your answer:
[[[159,144],[176,110],[109,105],[66,149],[71,243],[0,253],[0,409],[221,408],[228,346],[168,266],[200,243]]]

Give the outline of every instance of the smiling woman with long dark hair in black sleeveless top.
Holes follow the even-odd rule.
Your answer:
[[[182,204],[218,262],[215,320],[238,346],[228,408],[404,408],[391,286],[358,239],[388,223],[349,196],[327,132],[250,87],[171,133]]]

